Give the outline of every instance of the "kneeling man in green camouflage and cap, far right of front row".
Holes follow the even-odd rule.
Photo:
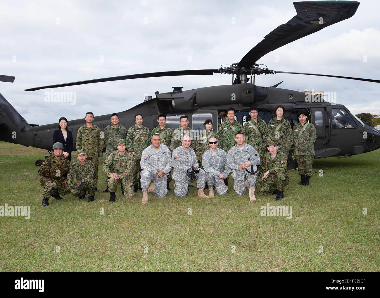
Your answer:
[[[266,172],[257,182],[257,189],[261,193],[275,192],[275,199],[280,200],[283,198],[284,186],[289,183],[287,174],[288,156],[280,153],[276,139],[269,139],[267,149],[269,152],[262,157]]]

